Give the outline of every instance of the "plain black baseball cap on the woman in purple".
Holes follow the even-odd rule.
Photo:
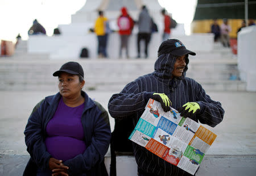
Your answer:
[[[63,64],[61,68],[54,72],[52,75],[53,77],[57,77],[61,72],[80,75],[84,78],[84,70],[82,69],[82,66],[77,62],[67,62]]]

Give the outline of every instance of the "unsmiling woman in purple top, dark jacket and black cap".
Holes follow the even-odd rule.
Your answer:
[[[31,158],[23,175],[108,175],[108,112],[82,91],[79,63],[67,62],[53,76],[59,93],[35,106],[24,131]]]

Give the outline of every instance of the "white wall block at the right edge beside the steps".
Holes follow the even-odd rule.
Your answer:
[[[242,28],[237,39],[240,78],[247,91],[256,91],[256,26]]]

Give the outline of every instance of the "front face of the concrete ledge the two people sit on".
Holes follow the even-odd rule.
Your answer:
[[[22,175],[30,156],[0,154],[0,175]],[[110,157],[105,157],[109,171]],[[207,155],[197,171],[197,176],[254,176],[256,173],[256,155]],[[137,164],[132,156],[117,157],[117,175],[137,175]]]

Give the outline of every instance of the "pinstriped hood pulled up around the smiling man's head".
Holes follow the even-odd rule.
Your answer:
[[[176,56],[170,53],[162,54],[158,57],[155,62],[155,72],[153,73],[156,77],[162,79],[172,79],[172,71],[174,70],[174,63],[176,62]],[[177,79],[184,79],[188,70],[188,56],[186,57],[186,66],[181,77]]]

